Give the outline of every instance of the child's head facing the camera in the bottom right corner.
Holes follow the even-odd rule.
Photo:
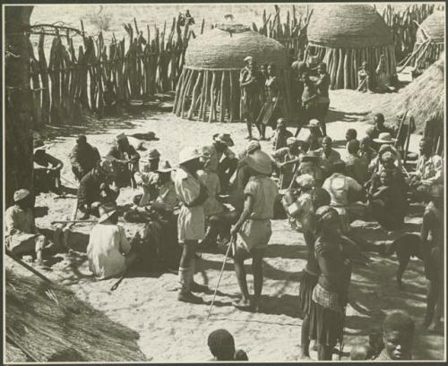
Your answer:
[[[384,349],[375,362],[412,360],[415,323],[405,311],[393,311],[383,321]]]

